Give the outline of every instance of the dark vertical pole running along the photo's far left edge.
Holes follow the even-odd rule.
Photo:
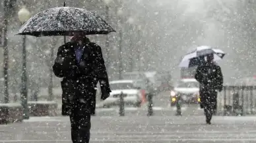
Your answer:
[[[9,103],[9,85],[8,85],[8,42],[7,42],[7,28],[9,19],[9,0],[3,1],[3,76],[4,76],[4,103]]]

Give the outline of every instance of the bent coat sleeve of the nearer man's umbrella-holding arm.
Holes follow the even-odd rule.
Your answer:
[[[59,47],[58,51],[57,51],[57,57],[55,59],[54,65],[53,65],[53,73],[55,74],[55,76],[62,78],[63,76],[65,76],[65,64],[64,64],[64,50],[65,50],[65,45],[62,45],[61,47]]]

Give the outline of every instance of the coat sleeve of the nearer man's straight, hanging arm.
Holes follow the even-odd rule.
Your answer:
[[[105,67],[105,62],[102,56],[102,48],[99,45],[94,43],[94,47],[96,48],[96,74],[98,81],[100,82],[100,88],[102,92],[110,93],[110,84],[108,81],[108,73]]]

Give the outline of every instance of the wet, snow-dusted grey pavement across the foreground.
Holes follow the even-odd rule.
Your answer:
[[[256,142],[256,117],[92,117],[91,143]],[[71,142],[67,117],[32,117],[0,126],[0,142]]]

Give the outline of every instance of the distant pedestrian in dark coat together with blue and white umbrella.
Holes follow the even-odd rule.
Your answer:
[[[195,79],[200,83],[200,106],[205,111],[207,124],[211,124],[212,115],[217,108],[217,92],[222,91],[223,76],[216,61],[224,55],[226,53],[221,49],[203,45],[187,53],[179,63],[179,67],[187,69],[197,67]]]

